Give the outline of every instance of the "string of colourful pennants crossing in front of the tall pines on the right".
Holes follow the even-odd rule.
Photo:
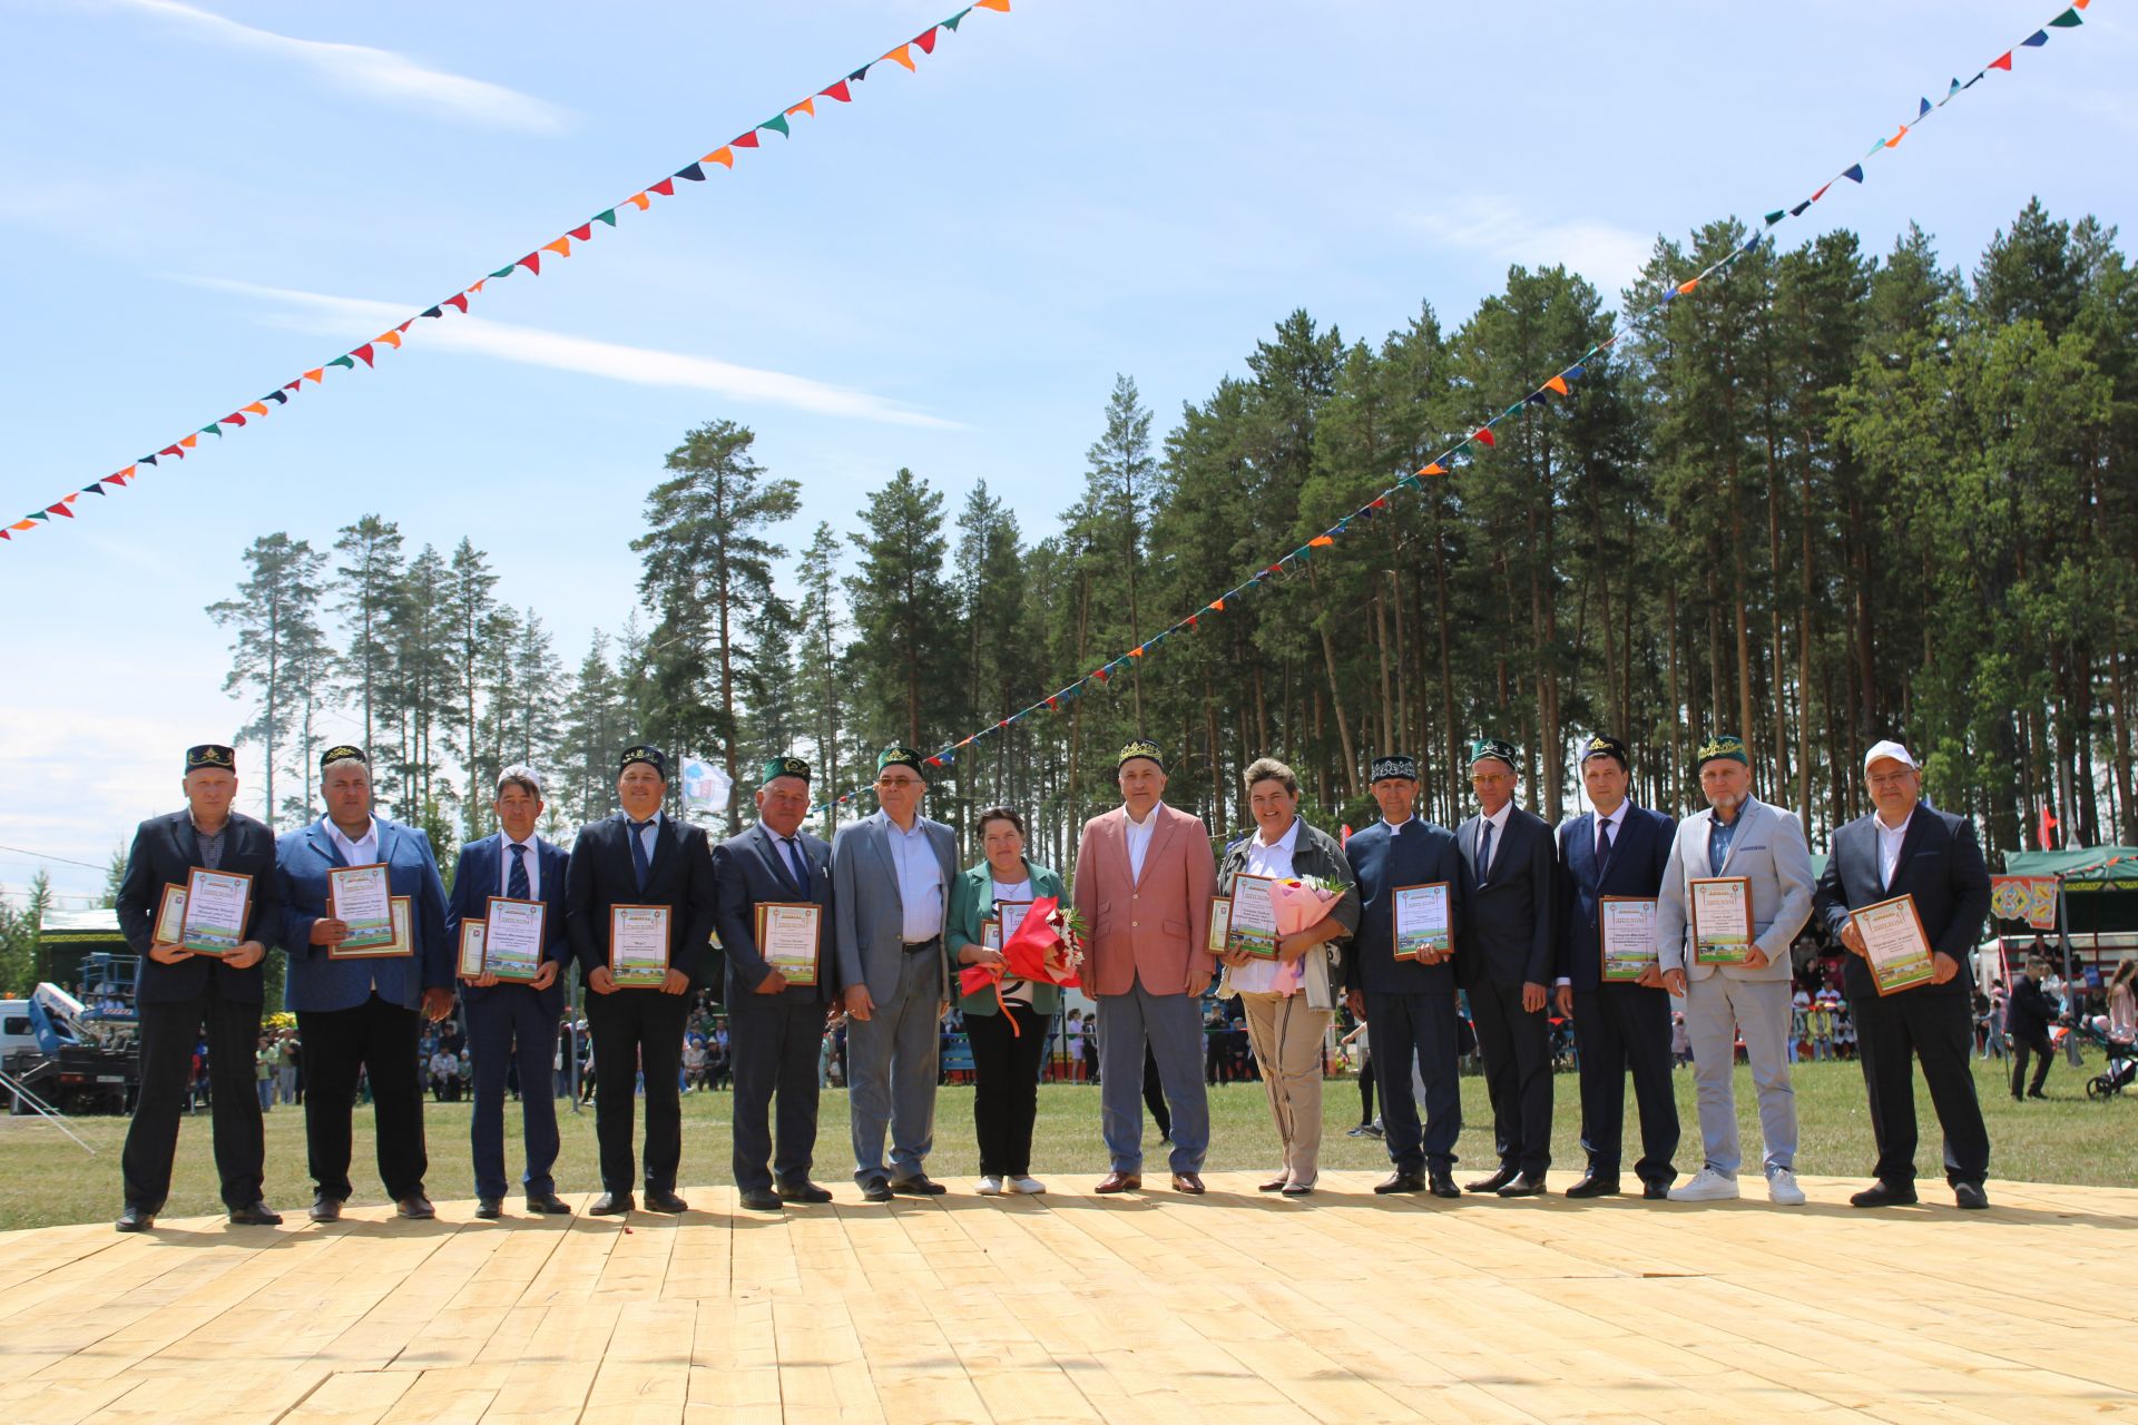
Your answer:
[[[1646,310],[1640,312],[1640,316],[1653,316],[1655,312],[1661,312],[1663,308],[1668,308],[1678,297],[1685,297],[1685,295],[1698,291],[1702,282],[1713,282],[1713,280],[1721,278],[1732,265],[1736,265],[1738,259],[1742,259],[1745,254],[1757,250],[1770,237],[1770,233],[1772,233],[1775,226],[1779,226],[1781,222],[1787,222],[1790,218],[1802,218],[1804,212],[1809,212],[1813,203],[1817,203],[1819,199],[1824,199],[1832,190],[1834,184],[1839,184],[1843,179],[1852,182],[1852,184],[1862,184],[1864,182],[1864,162],[1869,162],[1877,154],[1884,154],[1888,150],[1899,147],[1901,141],[1909,132],[1914,132],[1924,122],[1928,122],[1939,109],[1943,109],[1946,105],[1950,105],[1954,98],[1958,98],[1961,94],[1965,94],[1965,92],[1973,90],[1978,83],[1982,83],[1982,79],[1990,71],[2012,73],[2012,56],[2016,56],[2020,49],[2040,49],[2042,45],[2048,43],[2048,32],[2050,30],[2076,30],[2080,24],[2085,24],[2085,19],[2080,17],[2080,11],[2085,11],[2089,4],[2093,4],[2093,0],[2072,0],[2070,9],[2065,9],[2063,13],[2059,13],[2046,26],[2038,28],[2033,34],[2029,34],[2027,38],[2023,38],[2012,49],[2005,49],[2001,56],[1997,56],[1995,60],[1990,60],[1988,64],[1984,64],[1980,71],[1976,71],[1976,75],[1971,79],[1961,81],[1958,77],[1954,77],[1952,83],[1948,85],[1943,98],[1939,98],[1939,100],[1933,103],[1928,96],[1920,96],[1916,100],[1914,115],[1907,122],[1899,124],[1899,128],[1890,137],[1884,135],[1884,130],[1881,130],[1879,141],[1873,143],[1864,152],[1862,158],[1849,162],[1845,169],[1841,169],[1839,173],[1834,173],[1832,177],[1828,177],[1824,184],[1819,184],[1811,192],[1811,197],[1807,197],[1807,199],[1802,199],[1798,203],[1787,203],[1783,207],[1777,207],[1777,209],[1768,212],[1762,218],[1760,229],[1745,244],[1740,244],[1738,248],[1732,248],[1728,254],[1723,254],[1715,263],[1708,263],[1704,269],[1700,269],[1698,273],[1693,273],[1685,282],[1678,282],[1674,286],[1666,286],[1663,293],[1653,303],[1648,303]],[[1580,382],[1584,376],[1589,376],[1589,363],[1595,361],[1599,355],[1608,353],[1612,346],[1616,346],[1618,338],[1625,335],[1629,329],[1631,329],[1631,325],[1621,323],[1618,329],[1612,331],[1612,335],[1608,335],[1606,340],[1601,340],[1595,346],[1591,346],[1589,350],[1584,350],[1580,357],[1576,357],[1565,367],[1561,367],[1561,370],[1552,372],[1550,376],[1546,376],[1522,400],[1514,402],[1512,406],[1507,406],[1499,414],[1490,417],[1488,421],[1484,421],[1482,425],[1477,425],[1475,429],[1471,429],[1467,436],[1454,440],[1445,451],[1441,451],[1435,459],[1426,461],[1420,470],[1413,470],[1413,472],[1405,474],[1394,485],[1390,485],[1388,489],[1383,489],[1381,494],[1377,494],[1373,500],[1368,500],[1366,504],[1360,504],[1349,515],[1345,515],[1343,519],[1338,519],[1330,528],[1321,530],[1321,534],[1315,534],[1313,538],[1308,538],[1304,545],[1300,545],[1291,553],[1274,560],[1272,564],[1266,564],[1266,566],[1257,568],[1242,583],[1236,583],[1234,588],[1225,590],[1223,594],[1210,598],[1208,602],[1199,605],[1187,617],[1182,617],[1176,624],[1163,628],[1161,632],[1144,639],[1142,643],[1137,643],[1135,647],[1122,652],[1120,656],[1116,656],[1116,658],[1112,658],[1107,662],[1101,662],[1097,669],[1084,673],[1082,677],[1078,677],[1069,686],[1065,686],[1065,688],[1048,694],[1039,703],[1033,703],[1031,707],[1024,707],[1024,709],[1018,709],[1013,714],[1007,714],[1007,716],[994,720],[992,724],[988,724],[988,726],[971,733],[969,737],[962,737],[962,739],[945,746],[943,750],[939,750],[934,756],[928,758],[928,765],[930,767],[951,767],[951,765],[956,765],[958,754],[964,752],[966,748],[971,748],[973,743],[977,743],[977,741],[981,741],[986,737],[992,737],[996,733],[1003,733],[1003,731],[1016,726],[1018,722],[1022,722],[1026,718],[1033,718],[1033,716],[1039,716],[1039,714],[1058,714],[1065,705],[1069,705],[1075,699],[1084,696],[1084,692],[1088,692],[1090,688],[1095,688],[1095,686],[1103,688],[1112,677],[1116,677],[1118,673],[1122,673],[1125,669],[1129,669],[1133,664],[1133,660],[1148,658],[1167,639],[1172,639],[1176,635],[1182,635],[1182,632],[1197,632],[1202,628],[1204,620],[1227,613],[1240,600],[1244,600],[1251,594],[1255,594],[1268,581],[1272,581],[1272,579],[1276,579],[1281,575],[1296,573],[1302,564],[1308,564],[1315,558],[1317,551],[1330,549],[1330,547],[1336,545],[1336,541],[1345,538],[1355,523],[1366,523],[1366,521],[1375,519],[1377,515],[1381,515],[1383,511],[1388,511],[1390,500],[1394,500],[1398,494],[1403,494],[1403,491],[1424,491],[1424,483],[1428,479],[1439,479],[1439,476],[1452,474],[1460,466],[1460,461],[1465,461],[1465,459],[1469,459],[1469,457],[1475,455],[1477,447],[1484,447],[1484,449],[1497,447],[1499,444],[1499,436],[1494,434],[1494,427],[1499,427],[1501,423],[1512,421],[1514,417],[1527,412],[1533,406],[1550,406],[1554,397],[1559,397],[1559,400],[1571,397],[1574,385]],[[812,814],[821,812],[825,805],[849,805],[857,797],[862,797],[866,790],[868,790],[868,786],[855,786],[853,790],[840,793],[830,803],[819,801],[817,805],[810,808],[810,812]]]

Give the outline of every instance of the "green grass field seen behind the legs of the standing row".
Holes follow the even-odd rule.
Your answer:
[[[2048,1102],[2012,1102],[2005,1087],[2003,1064],[1976,1062],[1976,1085],[1988,1117],[1993,1158],[1990,1192],[1995,1179],[2093,1184],[2127,1188],[2138,1181],[2138,1094],[2125,1094],[2106,1102],[2085,1098],[2085,1079],[2100,1072],[2100,1055],[2089,1055],[2085,1070],[2074,1070],[2063,1060],[2050,1072]],[[1864,1105],[1862,1072],[1852,1062],[1798,1064],[1796,1068],[1798,1169],[1811,1175],[1869,1177],[1871,1173],[1871,1115]],[[1680,1068],[1676,1075],[1678,1113],[1683,1137],[1678,1147],[1678,1171],[1691,1175],[1700,1166],[1700,1134],[1693,1115],[1693,1075]],[[684,1184],[725,1184],[729,1158],[729,1096],[688,1094],[684,1098]],[[1383,1169],[1388,1158],[1373,1139],[1345,1137],[1345,1128],[1358,1122],[1358,1083],[1353,1079],[1330,1079],[1323,1098],[1328,1137],[1323,1143],[1323,1166],[1328,1169]],[[1580,1105],[1576,1079],[1569,1072],[1556,1077],[1554,1096],[1554,1169],[1582,1166],[1578,1143]],[[558,1105],[564,1152],[556,1164],[560,1192],[584,1192],[599,1188],[594,1173],[594,1115],[586,1109],[577,1115]],[[1210,1090],[1212,1143],[1210,1171],[1264,1169],[1274,1162],[1274,1132],[1270,1128],[1268,1102],[1259,1083],[1234,1083]],[[1918,1079],[1918,1111],[1922,1149],[1918,1171],[1926,1188],[1941,1186],[1937,1158],[1937,1117]],[[1633,1124],[1631,1090],[1627,1092],[1627,1177],[1631,1179],[1633,1158],[1640,1156],[1638,1130]],[[1760,1119],[1753,1098],[1751,1077],[1738,1066],[1738,1119],[1745,1137],[1745,1156],[1757,1162]],[[1462,1079],[1462,1166],[1488,1171],[1490,1111],[1484,1096],[1484,1081]],[[0,1117],[0,1228],[49,1226],[58,1222],[96,1222],[118,1216],[120,1209],[120,1145],[126,1137],[126,1122],[118,1117],[73,1119],[75,1132],[88,1139],[96,1154],[90,1156],[68,1143],[43,1119]],[[507,1105],[507,1173],[520,1173],[520,1109]],[[372,1117],[368,1109],[357,1109],[357,1143],[351,1179],[357,1203],[381,1203],[385,1192],[378,1186],[376,1166],[370,1152]],[[468,1199],[475,1194],[468,1164],[468,1105],[425,1105],[425,1132],[430,1141],[430,1194],[434,1199]],[[1146,1139],[1146,1166],[1163,1171],[1163,1152],[1152,1149]],[[973,1090],[945,1087],[936,1102],[936,1149],[928,1162],[930,1173],[951,1186],[971,1190],[977,1173],[977,1152],[973,1145]],[[823,1096],[817,1134],[817,1179],[832,1188],[851,1184],[851,1154],[847,1147],[847,1096],[827,1090]],[[1103,1173],[1105,1149],[1099,1143],[1099,1090],[1093,1085],[1045,1085],[1039,1090],[1039,1128],[1033,1147],[1033,1171],[1041,1179],[1050,1173]],[[304,1109],[278,1107],[267,1115],[267,1201],[284,1211],[301,1209],[312,1201],[312,1184],[304,1166]],[[511,1207],[511,1201],[507,1203]],[[167,1216],[197,1216],[220,1211],[214,1162],[210,1158],[207,1115],[186,1119],[177,1145],[177,1171],[171,1186]]]

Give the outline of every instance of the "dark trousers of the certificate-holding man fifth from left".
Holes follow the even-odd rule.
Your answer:
[[[742,996],[727,1006],[727,1053],[735,1070],[735,1186],[808,1181],[817,1156],[817,1051],[823,1002]],[[778,1137],[774,1139],[774,1094]]]

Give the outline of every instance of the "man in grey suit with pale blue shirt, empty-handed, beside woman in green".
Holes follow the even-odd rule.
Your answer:
[[[934,1147],[939,1028],[949,1008],[943,914],[958,840],[919,814],[928,780],[913,748],[877,756],[881,810],[832,837],[832,931],[847,1008],[847,1111],[853,1179],[870,1203],[934,1196],[921,1160]],[[892,1164],[883,1166],[883,1130]]]

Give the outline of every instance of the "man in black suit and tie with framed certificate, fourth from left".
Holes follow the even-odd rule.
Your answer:
[[[594,1137],[603,1194],[594,1216],[635,1207],[633,1087],[646,1072],[646,1207],[686,1211],[676,1196],[682,1162],[682,1025],[691,989],[718,966],[712,955],[712,852],[706,833],[661,812],[667,758],[626,748],[616,778],[622,812],[579,827],[564,867],[564,923],[579,959],[586,1028],[594,1038]],[[661,906],[669,919],[669,970],[659,989],[620,987],[609,974],[609,908]]]

